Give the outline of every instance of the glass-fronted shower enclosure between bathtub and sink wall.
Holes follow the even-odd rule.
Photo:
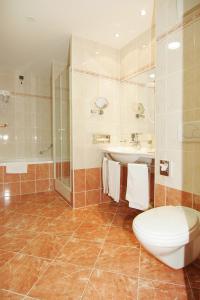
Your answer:
[[[52,75],[55,189],[70,202],[70,68],[54,64]]]

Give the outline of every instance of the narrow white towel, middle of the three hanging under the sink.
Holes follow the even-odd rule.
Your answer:
[[[108,160],[108,195],[119,202],[120,198],[120,164],[117,161]]]

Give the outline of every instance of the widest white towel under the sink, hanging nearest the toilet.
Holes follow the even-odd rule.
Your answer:
[[[146,210],[149,208],[149,174],[146,164],[128,164],[126,200],[129,207]]]

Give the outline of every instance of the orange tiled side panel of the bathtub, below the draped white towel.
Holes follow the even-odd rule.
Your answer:
[[[7,174],[0,166],[0,197],[54,190],[53,163],[28,164],[24,174]]]

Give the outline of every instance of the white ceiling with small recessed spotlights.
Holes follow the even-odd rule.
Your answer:
[[[66,62],[71,34],[121,48],[150,26],[153,3],[0,0],[0,70],[44,71],[49,70],[52,60]],[[146,16],[140,15],[141,9],[146,10]]]

